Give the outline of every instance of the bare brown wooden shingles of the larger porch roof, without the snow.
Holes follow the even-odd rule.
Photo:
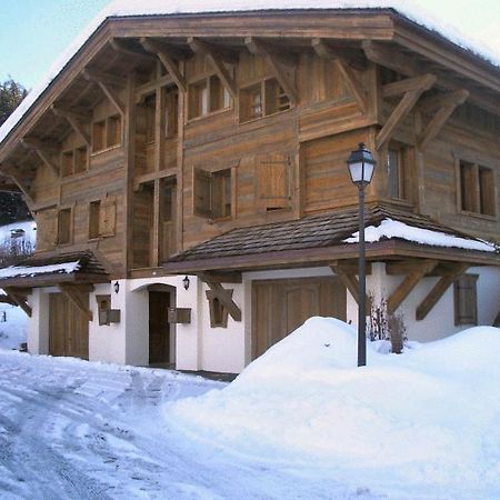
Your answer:
[[[386,219],[399,221],[412,228],[427,229],[478,241],[471,236],[442,226],[424,216],[384,206],[367,208],[367,227],[379,226]],[[229,267],[238,268],[237,264],[239,263],[242,267],[246,266],[246,258],[248,258],[248,262],[252,260],[258,264],[259,256],[263,257],[264,254],[273,256],[272,260],[277,264],[279,263],[280,254],[287,256],[287,259],[288,256],[293,257],[293,259],[299,254],[302,254],[302,259],[307,256],[311,256],[311,258],[318,256],[317,261],[320,261],[319,256],[326,254],[321,249],[334,249],[336,251],[349,252],[351,257],[356,257],[358,246],[346,243],[344,240],[358,231],[358,208],[354,208],[309,216],[286,222],[233,229],[172,257],[164,263],[164,268],[173,272],[183,272],[183,269],[188,272],[194,269],[202,269],[202,264],[206,262],[208,264],[207,269],[217,269],[219,266],[218,261],[221,268],[222,263],[229,263]],[[393,240],[397,239],[394,238]],[[383,241],[369,243],[369,247],[381,248],[381,243]],[[392,239],[391,243],[393,243]],[[402,243],[412,244],[413,247],[418,246],[414,242]],[[464,249],[447,249],[447,252],[468,253],[470,256],[487,253]],[[232,260],[234,266],[231,266]],[[284,262],[284,260],[282,261]]]

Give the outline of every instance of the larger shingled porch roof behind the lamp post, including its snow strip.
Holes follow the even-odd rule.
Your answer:
[[[494,248],[470,234],[442,226],[428,217],[393,207],[367,208],[367,228],[378,229],[384,221],[403,224],[408,229],[407,233],[420,231],[434,236],[434,241],[432,242],[432,238],[412,239],[408,234],[382,231],[378,241],[367,242],[368,260],[421,257],[470,264],[500,266],[500,258]],[[334,260],[353,259],[358,256],[358,243],[353,241],[356,238],[352,238],[357,231],[357,208],[309,216],[299,220],[239,228],[172,257],[163,267],[167,271],[183,273],[211,269],[329,264]]]

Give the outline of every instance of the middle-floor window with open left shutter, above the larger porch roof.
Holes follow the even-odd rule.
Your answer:
[[[210,219],[230,218],[232,213],[231,169],[208,172],[194,169],[194,214]]]

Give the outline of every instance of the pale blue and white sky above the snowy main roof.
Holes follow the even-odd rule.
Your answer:
[[[499,0],[409,1],[500,58]],[[0,81],[12,77],[26,88],[33,88],[108,3],[109,0],[0,0]]]

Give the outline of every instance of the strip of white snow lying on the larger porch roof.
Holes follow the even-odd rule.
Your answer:
[[[469,240],[467,238],[459,238],[444,232],[432,231],[430,229],[414,228],[392,219],[384,219],[380,226],[369,226],[364,230],[364,239],[367,242],[391,238],[400,238],[402,240],[430,244],[432,247],[463,248],[466,250],[479,250],[481,252],[496,251],[494,246],[487,241]],[[359,241],[359,231],[354,232],[350,238],[347,238],[343,241],[346,243],[357,243]]]

